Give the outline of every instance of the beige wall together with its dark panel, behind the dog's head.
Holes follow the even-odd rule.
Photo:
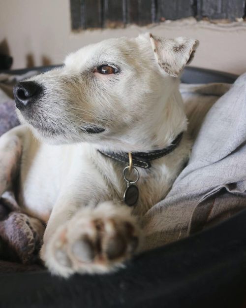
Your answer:
[[[192,66],[240,74],[245,17],[245,0],[0,0],[0,69],[61,64],[87,44],[152,32],[197,38]]]

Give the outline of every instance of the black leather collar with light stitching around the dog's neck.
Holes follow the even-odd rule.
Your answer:
[[[155,150],[155,151],[150,151],[148,153],[145,152],[133,152],[132,153],[132,165],[135,167],[141,167],[141,168],[150,168],[151,163],[150,161],[153,161],[157,158],[166,156],[167,154],[171,153],[173,150],[176,149],[176,147],[179,145],[182,137],[183,137],[183,132],[180,133],[172,142],[171,145],[165,147],[164,149],[161,150]],[[112,159],[115,159],[117,161],[123,162],[125,164],[129,164],[129,156],[128,153],[126,152],[104,152],[104,151],[99,151],[102,155],[105,155],[107,157],[110,157]]]

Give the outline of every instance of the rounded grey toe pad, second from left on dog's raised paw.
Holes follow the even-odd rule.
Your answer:
[[[77,240],[72,246],[72,253],[81,262],[91,262],[95,253],[92,243],[88,240]]]

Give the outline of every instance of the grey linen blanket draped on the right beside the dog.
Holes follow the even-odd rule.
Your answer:
[[[196,88],[195,93],[201,95],[203,87],[206,88],[188,87],[190,90]],[[202,95],[203,103],[208,99],[211,105],[214,94],[219,94],[219,89],[224,87],[218,85],[213,90],[212,86],[210,94]],[[186,104],[196,103],[192,101],[194,96],[199,102],[195,93],[191,91],[185,95],[183,89]],[[190,111],[190,120],[195,114],[198,116],[200,107]],[[184,238],[245,208],[246,74],[217,100],[201,128],[197,129],[191,121],[191,134],[198,135],[188,165],[165,200],[154,205],[145,215],[146,248]]]

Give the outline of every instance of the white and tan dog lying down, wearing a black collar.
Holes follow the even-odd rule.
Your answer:
[[[107,273],[142,251],[141,217],[189,157],[179,76],[197,46],[112,38],[14,87],[23,125],[0,137],[0,196],[14,191],[47,223],[40,256],[52,273]]]

